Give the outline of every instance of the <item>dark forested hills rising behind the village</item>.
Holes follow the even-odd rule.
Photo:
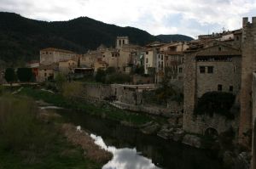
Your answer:
[[[15,65],[39,59],[41,48],[63,48],[84,54],[101,44],[114,47],[117,36],[129,36],[130,42],[144,45],[159,40],[133,27],[108,25],[80,17],[68,21],[38,21],[19,14],[0,13],[0,60]],[[180,40],[183,39],[181,36]]]

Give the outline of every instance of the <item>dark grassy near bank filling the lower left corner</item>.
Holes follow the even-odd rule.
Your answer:
[[[0,96],[0,168],[101,168],[67,141],[55,118],[44,121],[32,99]],[[59,120],[58,120],[59,121]]]

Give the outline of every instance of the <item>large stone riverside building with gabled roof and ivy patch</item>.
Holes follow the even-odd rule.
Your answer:
[[[218,133],[236,127],[221,115],[194,115],[195,105],[207,92],[237,94],[241,84],[241,50],[225,42],[213,40],[204,48],[189,48],[184,62],[183,130],[204,134],[208,128]]]

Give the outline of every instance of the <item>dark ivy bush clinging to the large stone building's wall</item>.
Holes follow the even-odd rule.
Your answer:
[[[234,119],[230,112],[236,96],[232,93],[209,92],[204,93],[198,100],[195,107],[195,115],[213,115],[214,113],[224,115],[229,119]]]

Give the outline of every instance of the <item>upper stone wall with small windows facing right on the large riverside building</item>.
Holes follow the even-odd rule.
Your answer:
[[[200,67],[213,66],[213,73],[201,73]],[[204,93],[218,91],[218,85],[222,85],[222,91],[237,94],[241,86],[241,57],[232,57],[230,61],[201,61],[196,65],[197,93],[200,98]],[[233,91],[230,91],[233,87]]]

